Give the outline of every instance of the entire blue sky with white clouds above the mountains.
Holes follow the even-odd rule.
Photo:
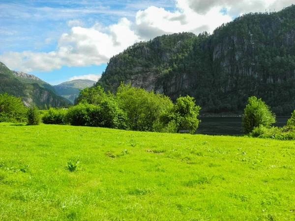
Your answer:
[[[0,61],[58,84],[97,80],[109,58],[162,34],[207,31],[293,0],[0,0]]]

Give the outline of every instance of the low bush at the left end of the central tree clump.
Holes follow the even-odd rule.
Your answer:
[[[44,124],[66,124],[66,110],[50,108],[46,112],[42,121]]]

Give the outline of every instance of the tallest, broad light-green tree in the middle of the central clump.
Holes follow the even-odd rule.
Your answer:
[[[121,83],[116,98],[119,107],[127,113],[128,127],[136,131],[160,131],[163,127],[161,116],[173,107],[167,96],[130,84]]]

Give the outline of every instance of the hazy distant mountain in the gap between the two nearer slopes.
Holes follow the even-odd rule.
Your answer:
[[[70,82],[60,83],[53,87],[57,90],[58,94],[64,98],[67,98],[74,103],[76,97],[79,95],[79,89],[91,87],[96,82],[90,80],[73,80]]]

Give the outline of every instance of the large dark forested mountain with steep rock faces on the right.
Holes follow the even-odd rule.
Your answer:
[[[95,85],[115,92],[121,81],[172,100],[188,94],[203,112],[239,112],[255,95],[278,115],[290,115],[295,109],[295,5],[240,16],[212,34],[178,33],[136,43],[110,59]]]

